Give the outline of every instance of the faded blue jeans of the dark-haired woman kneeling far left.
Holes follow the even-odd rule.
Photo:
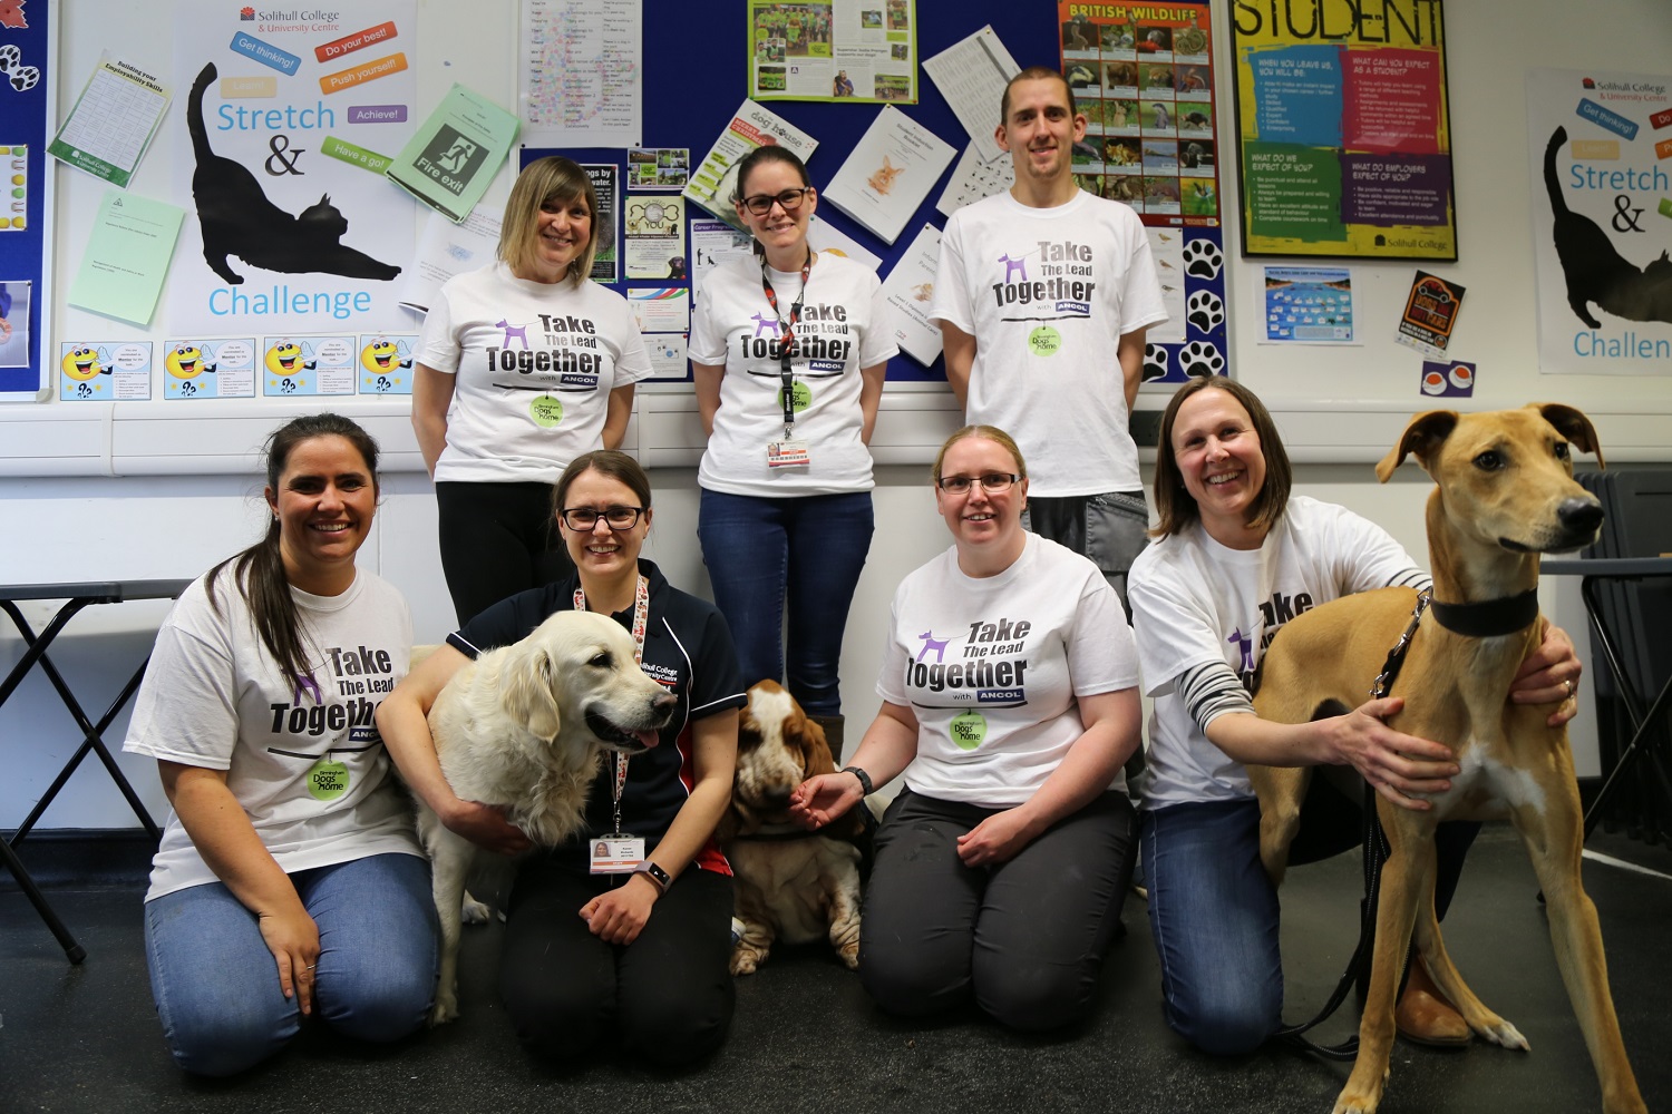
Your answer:
[[[299,870],[291,884],[319,927],[314,1015],[358,1041],[398,1041],[423,1025],[438,940],[430,863],[370,855]],[[162,1036],[192,1074],[241,1072],[301,1029],[256,915],[222,882],[147,902],[145,959]]]

